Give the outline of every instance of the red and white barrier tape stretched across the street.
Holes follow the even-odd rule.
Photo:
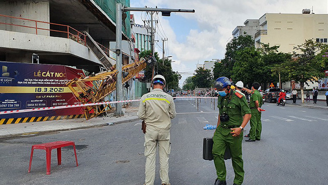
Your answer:
[[[202,98],[202,99],[210,99],[217,97],[198,97],[198,96],[181,96],[181,97],[174,97],[174,98]],[[68,108],[75,108],[75,107],[86,107],[86,106],[93,106],[93,105],[104,105],[104,104],[117,104],[117,103],[126,103],[126,102],[139,102],[138,100],[123,100],[123,101],[114,101],[114,102],[98,102],[98,103],[89,103],[89,104],[77,104],[77,105],[65,105],[65,106],[56,106],[56,107],[44,107],[44,108],[34,108],[34,109],[22,109],[22,110],[14,110],[14,111],[0,111],[0,115],[4,114],[14,114],[14,113],[28,113],[28,112],[36,112],[36,111],[47,111],[47,110],[55,110],[55,109],[68,109]]]

